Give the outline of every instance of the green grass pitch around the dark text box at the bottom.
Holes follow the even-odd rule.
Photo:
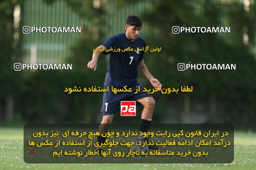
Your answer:
[[[23,160],[23,128],[0,127],[0,169],[256,169],[256,133],[235,131],[232,163],[30,164]]]

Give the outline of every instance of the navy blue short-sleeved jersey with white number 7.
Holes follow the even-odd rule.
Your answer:
[[[137,49],[145,48],[146,41],[137,37],[132,42],[130,41],[125,33],[118,33],[108,38],[104,43],[106,49]],[[144,51],[104,51],[103,54],[109,54],[109,63],[107,66],[106,77],[104,85],[111,85],[116,87],[123,87],[125,85],[132,85],[137,83],[138,76],[138,63],[145,58]]]

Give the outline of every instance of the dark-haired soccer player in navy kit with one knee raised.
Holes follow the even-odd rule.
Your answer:
[[[113,115],[115,112],[120,111],[120,101],[122,100],[136,100],[140,102],[143,106],[142,120],[140,125],[140,131],[147,132],[152,120],[152,114],[155,106],[154,98],[147,92],[140,90],[138,93],[134,93],[136,86],[140,86],[140,89],[144,89],[142,84],[137,81],[138,68],[142,71],[143,75],[148,78],[151,84],[154,87],[161,90],[162,84],[158,79],[154,78],[153,75],[148,70],[146,64],[144,63],[145,52],[144,51],[108,51],[106,49],[137,49],[137,48],[146,48],[146,41],[139,37],[139,33],[142,27],[142,21],[138,16],[128,16],[125,24],[125,33],[119,33],[108,38],[104,43],[98,46],[98,50],[93,52],[92,60],[88,62],[88,68],[96,70],[97,60],[101,52],[103,54],[109,54],[109,63],[107,66],[104,88],[109,86],[114,87],[123,87],[127,85],[128,88],[132,88],[133,92],[117,92],[114,94],[111,90],[103,93],[103,101],[101,114],[103,115],[99,133],[106,132],[107,127],[105,123],[111,123]],[[135,90],[135,91],[134,91]],[[148,140],[141,135],[138,135],[140,140]],[[104,143],[106,140],[105,137],[98,136],[98,142]],[[158,149],[157,145],[149,145],[150,149]],[[103,149],[103,148],[97,148]]]

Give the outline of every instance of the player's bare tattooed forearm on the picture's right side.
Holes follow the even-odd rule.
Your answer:
[[[154,76],[150,73],[150,71],[148,70],[146,64],[144,63],[144,59],[139,61],[138,68],[142,71],[143,75],[148,78],[150,83],[155,88],[157,87],[159,90],[161,90],[162,84],[160,83],[160,81],[157,78],[154,78]]]

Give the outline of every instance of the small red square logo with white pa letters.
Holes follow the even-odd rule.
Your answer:
[[[121,116],[136,116],[136,101],[121,101]]]

